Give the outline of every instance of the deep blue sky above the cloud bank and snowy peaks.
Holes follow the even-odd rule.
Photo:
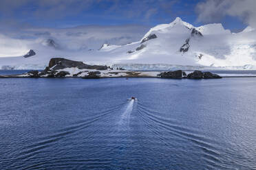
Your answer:
[[[177,16],[195,26],[222,23],[237,32],[246,22],[232,14],[198,19],[198,8],[228,0],[1,0],[0,26],[76,27],[79,25],[149,25],[170,23]],[[237,1],[237,0],[234,0]],[[250,0],[248,0],[250,1]],[[205,13],[205,12],[204,12]],[[214,12],[213,12],[214,13]],[[222,14],[222,12],[220,12]],[[19,26],[18,26],[19,27]]]

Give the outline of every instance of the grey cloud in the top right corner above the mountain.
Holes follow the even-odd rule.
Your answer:
[[[200,22],[220,22],[224,16],[236,16],[256,28],[255,7],[255,0],[206,0],[198,3],[196,12]]]

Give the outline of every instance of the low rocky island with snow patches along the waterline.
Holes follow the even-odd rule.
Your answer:
[[[220,75],[202,71],[129,71],[113,69],[110,66],[89,65],[83,62],[52,58],[43,71],[28,71],[19,75],[0,75],[0,78],[10,77],[81,77],[83,79],[98,79],[107,77],[160,77],[168,79],[219,79]]]

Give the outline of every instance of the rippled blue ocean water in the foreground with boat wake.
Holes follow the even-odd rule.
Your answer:
[[[256,169],[255,84],[0,79],[0,169]]]

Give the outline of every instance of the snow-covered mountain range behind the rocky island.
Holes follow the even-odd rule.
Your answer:
[[[119,64],[127,69],[171,69],[175,66],[256,69],[256,30],[252,27],[235,34],[221,24],[194,27],[176,18],[172,23],[151,28],[140,40],[125,45],[107,43],[86,49],[81,45],[68,50],[65,44],[56,41],[28,42],[26,47],[31,45],[36,55],[0,58],[0,68],[42,69],[50,58],[58,56],[91,64],[117,67]]]

